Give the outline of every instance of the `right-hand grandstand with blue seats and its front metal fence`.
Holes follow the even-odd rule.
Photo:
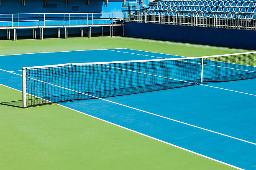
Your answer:
[[[125,20],[138,23],[256,30],[256,0],[161,0],[141,9],[129,5]]]

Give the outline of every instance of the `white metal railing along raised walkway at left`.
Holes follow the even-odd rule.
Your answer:
[[[123,25],[124,13],[0,14],[0,29]]]

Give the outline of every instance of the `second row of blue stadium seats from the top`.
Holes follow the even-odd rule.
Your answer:
[[[181,12],[210,12],[210,13],[238,13],[238,14],[256,14],[256,8],[233,8],[233,7],[185,7],[185,6],[178,6],[178,7],[166,7],[166,6],[151,6],[149,10],[152,11],[181,11]]]

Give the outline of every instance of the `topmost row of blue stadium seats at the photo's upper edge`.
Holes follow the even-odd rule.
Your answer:
[[[250,2],[174,2],[174,1],[159,1],[155,6],[199,6],[199,7],[246,7],[256,8],[256,3]]]

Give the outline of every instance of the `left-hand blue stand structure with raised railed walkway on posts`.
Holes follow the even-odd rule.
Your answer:
[[[0,0],[0,38],[123,35],[129,2],[136,1]]]

